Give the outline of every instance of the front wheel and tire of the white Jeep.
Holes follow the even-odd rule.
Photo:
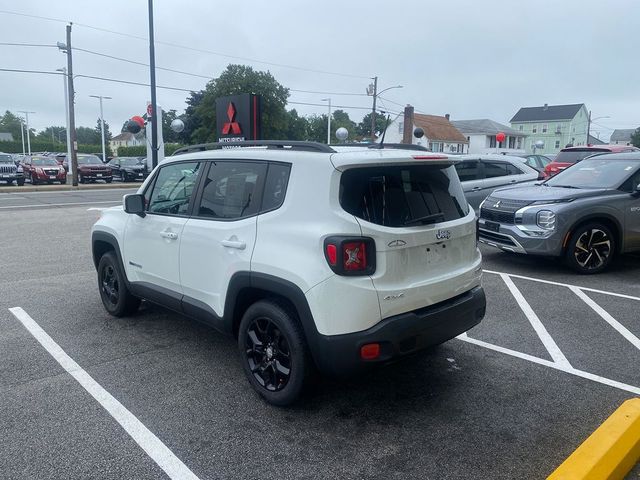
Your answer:
[[[98,263],[98,290],[104,308],[114,317],[130,315],[140,306],[140,299],[127,288],[124,273],[113,251],[105,253]]]

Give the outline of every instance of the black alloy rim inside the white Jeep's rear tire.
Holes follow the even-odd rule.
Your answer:
[[[245,353],[256,381],[271,392],[287,386],[291,375],[291,351],[287,339],[271,320],[259,317],[245,335]]]

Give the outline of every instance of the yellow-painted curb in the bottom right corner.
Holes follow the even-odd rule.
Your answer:
[[[623,479],[640,459],[640,398],[627,400],[547,480]]]

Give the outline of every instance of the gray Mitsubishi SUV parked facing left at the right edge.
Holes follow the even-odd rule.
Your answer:
[[[640,152],[594,156],[545,182],[496,190],[478,223],[484,244],[601,272],[616,254],[640,250]]]

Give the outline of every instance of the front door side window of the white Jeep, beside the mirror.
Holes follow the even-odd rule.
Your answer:
[[[200,162],[172,163],[156,175],[151,194],[145,199],[149,213],[186,215],[195,187]]]

